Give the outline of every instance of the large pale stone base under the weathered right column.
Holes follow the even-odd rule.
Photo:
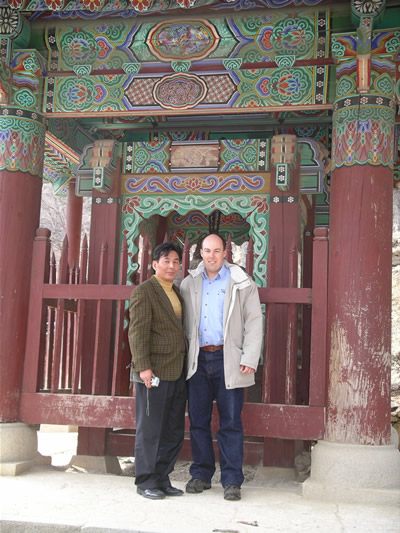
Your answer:
[[[400,453],[394,445],[319,441],[311,452],[305,498],[346,503],[400,504]]]

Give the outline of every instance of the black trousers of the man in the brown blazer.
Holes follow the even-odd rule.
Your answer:
[[[169,487],[185,434],[186,383],[160,381],[147,389],[136,383],[135,484],[141,489]]]

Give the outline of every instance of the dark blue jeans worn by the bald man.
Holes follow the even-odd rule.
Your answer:
[[[223,351],[200,350],[196,373],[188,383],[188,409],[190,418],[190,441],[193,478],[211,481],[215,472],[215,456],[211,435],[213,401],[219,413],[217,441],[221,466],[221,483],[242,485],[243,427],[241,413],[243,388],[227,389],[224,379]]]

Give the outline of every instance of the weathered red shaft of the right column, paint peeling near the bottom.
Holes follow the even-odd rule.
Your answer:
[[[331,182],[326,438],[390,443],[392,182],[388,167]]]

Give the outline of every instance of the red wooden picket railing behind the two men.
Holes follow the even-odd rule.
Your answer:
[[[124,239],[119,261],[119,284],[104,284],[107,264],[107,244],[100,253],[97,283],[88,283],[87,242],[84,240],[80,265],[68,268],[68,243],[65,240],[58,272],[54,257],[50,261],[50,232],[39,229],[34,243],[29,303],[29,323],[25,353],[24,378],[20,404],[20,419],[27,423],[73,424],[87,427],[135,428],[134,399],[129,389],[130,362],[126,332],[126,301],[134,287],[127,285],[128,249]],[[230,242],[228,248],[231,250]],[[246,269],[253,265],[250,241]],[[270,251],[269,261],[274,261]],[[297,253],[289,255],[290,287],[260,288],[261,303],[266,304],[264,364],[261,392],[256,401],[247,401],[243,412],[244,429],[254,437],[318,439],[324,432],[326,401],[326,307],[327,307],[328,230],[317,228],[314,236],[313,286],[297,287]],[[140,281],[149,276],[150,244],[145,237],[141,260]],[[185,240],[183,277],[189,266],[189,243]],[[273,268],[271,269],[273,271]],[[57,274],[57,276],[56,276]],[[83,317],[87,301],[96,302],[95,334],[91,394],[82,394]],[[106,323],[103,312],[108,302],[114,302],[112,324]],[[285,403],[271,404],[269,397],[271,362],[269,351],[269,316],[275,304],[288,306],[290,325],[286,348]],[[295,405],[297,309],[312,306],[309,404]],[[107,319],[108,320],[108,319]],[[109,321],[109,320],[108,320]],[[100,360],[99,342],[102,328],[113,333],[109,359]],[[104,352],[103,352],[104,353]],[[89,358],[90,359],[90,358]],[[98,375],[104,365],[111,369],[109,394],[97,390]]]

